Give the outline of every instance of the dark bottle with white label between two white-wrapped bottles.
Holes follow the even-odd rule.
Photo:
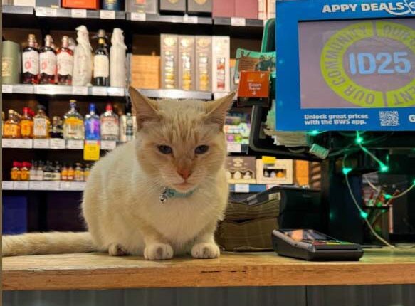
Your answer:
[[[109,86],[110,84],[110,58],[107,49],[107,36],[105,30],[98,31],[98,48],[94,55],[93,85]]]

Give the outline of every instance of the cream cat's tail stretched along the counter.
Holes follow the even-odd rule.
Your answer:
[[[89,232],[25,233],[3,236],[3,256],[88,253],[97,251]]]

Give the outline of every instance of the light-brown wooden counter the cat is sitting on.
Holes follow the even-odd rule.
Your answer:
[[[415,283],[415,249],[366,250],[359,262],[313,263],[275,253],[147,261],[106,254],[3,258],[4,290]]]

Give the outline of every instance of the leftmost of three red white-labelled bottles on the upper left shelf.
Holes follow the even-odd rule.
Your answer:
[[[28,46],[23,48],[21,55],[23,69],[23,84],[37,84],[39,78],[39,51],[36,48],[36,37],[28,36]]]

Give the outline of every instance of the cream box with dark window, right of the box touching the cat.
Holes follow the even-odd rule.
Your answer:
[[[293,184],[293,159],[256,159],[257,184]]]

